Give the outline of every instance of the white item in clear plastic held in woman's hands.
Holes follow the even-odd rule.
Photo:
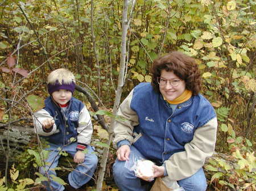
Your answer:
[[[153,165],[154,163],[150,160],[138,160],[136,172],[139,176],[152,179],[154,177]]]

